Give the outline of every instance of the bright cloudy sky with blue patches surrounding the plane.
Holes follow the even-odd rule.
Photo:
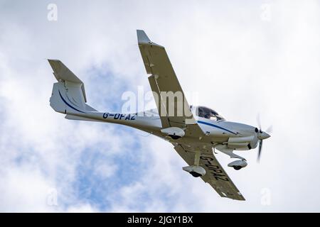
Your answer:
[[[272,125],[260,163],[240,151],[248,166],[235,171],[217,155],[246,201],[184,172],[160,138],[50,108],[48,58],[82,79],[99,111],[148,92],[137,29],[166,47],[199,104]],[[0,211],[320,211],[319,1],[0,0],[0,31]]]

